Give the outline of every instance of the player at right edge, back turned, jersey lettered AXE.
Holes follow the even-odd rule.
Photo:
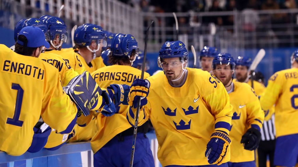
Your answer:
[[[298,51],[291,56],[291,69],[278,71],[260,98],[264,110],[275,104],[276,145],[274,165],[297,166],[298,158]]]

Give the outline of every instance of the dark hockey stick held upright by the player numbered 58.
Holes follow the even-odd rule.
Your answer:
[[[152,25],[153,22],[154,21],[151,21],[151,23],[149,24],[148,29],[146,31],[145,48],[144,48],[144,59],[143,59],[141,79],[144,79],[145,64],[146,64],[146,54],[147,54],[148,34],[149,34],[150,26]],[[133,137],[133,141],[132,141],[131,160],[130,160],[130,165],[129,165],[130,167],[132,167],[133,162],[134,162],[134,149],[136,147],[136,132],[138,130],[140,106],[141,106],[141,98],[138,99],[138,105],[137,105],[137,108],[136,108],[136,119],[135,119],[135,122],[134,122],[134,137]]]

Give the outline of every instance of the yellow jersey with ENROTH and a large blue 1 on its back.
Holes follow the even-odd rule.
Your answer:
[[[57,133],[72,130],[77,107],[63,92],[58,70],[2,44],[0,57],[0,150],[14,156],[26,152],[40,116]]]

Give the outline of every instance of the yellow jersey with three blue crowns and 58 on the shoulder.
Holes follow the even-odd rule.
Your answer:
[[[204,154],[212,132],[230,130],[232,105],[224,85],[206,71],[187,70],[181,87],[170,86],[163,71],[147,78],[150,92],[144,111],[140,111],[139,125],[151,120],[162,166],[209,165]],[[129,109],[127,119],[131,125],[134,117]],[[223,163],[230,160],[229,148]]]

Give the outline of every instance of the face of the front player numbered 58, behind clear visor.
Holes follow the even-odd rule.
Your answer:
[[[179,57],[162,59],[162,67],[168,80],[174,80],[182,75],[183,63]]]

